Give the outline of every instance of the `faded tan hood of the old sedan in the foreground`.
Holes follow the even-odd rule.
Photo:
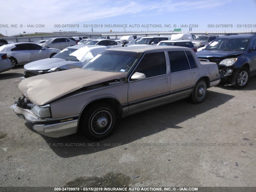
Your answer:
[[[71,69],[22,80],[19,90],[32,103],[42,106],[80,88],[126,77],[126,72]]]

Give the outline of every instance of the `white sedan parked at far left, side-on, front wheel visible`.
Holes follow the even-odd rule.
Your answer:
[[[59,49],[46,48],[34,43],[7,44],[1,46],[0,51],[7,53],[13,66],[50,58],[60,52]]]

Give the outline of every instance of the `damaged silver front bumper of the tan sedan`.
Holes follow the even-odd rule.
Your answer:
[[[78,116],[63,119],[40,119],[30,109],[21,108],[14,104],[10,108],[22,119],[32,124],[33,129],[48,137],[63,137],[77,132]]]

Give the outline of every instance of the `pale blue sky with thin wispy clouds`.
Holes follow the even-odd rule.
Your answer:
[[[0,33],[256,29],[256,0],[0,0]]]

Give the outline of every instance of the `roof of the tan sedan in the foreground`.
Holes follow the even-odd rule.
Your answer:
[[[110,48],[110,49],[107,49],[107,50],[128,51],[128,52],[150,52],[150,51],[177,50],[177,49],[191,50],[191,48],[187,48],[187,47],[179,47],[179,46],[153,46],[153,45],[117,47],[117,48]]]

